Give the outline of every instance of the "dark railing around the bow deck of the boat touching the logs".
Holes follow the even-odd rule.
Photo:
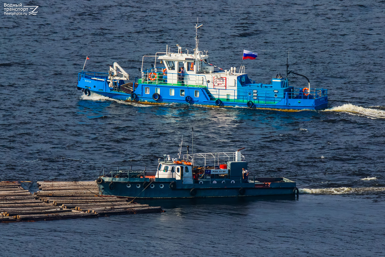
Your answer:
[[[155,165],[125,165],[125,166],[109,166],[104,167],[100,172],[99,176],[111,177],[111,178],[134,178],[140,177],[143,178],[146,176],[147,172],[156,172],[157,168]]]

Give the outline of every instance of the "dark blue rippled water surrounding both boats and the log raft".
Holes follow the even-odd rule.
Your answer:
[[[0,17],[0,179],[93,180],[103,166],[245,147],[251,175],[285,176],[298,198],[151,201],[161,214],[2,224],[1,256],[385,255],[384,1],[31,1]],[[33,16],[33,17],[32,17]],[[324,111],[141,106],[85,97],[77,72],[140,74],[166,44],[268,83],[289,69],[329,89]],[[173,50],[171,48],[171,50]],[[174,48],[176,50],[176,48]],[[145,66],[150,67],[150,63]],[[293,86],[305,84],[291,78]],[[363,180],[364,179],[364,180]],[[148,202],[148,201],[147,201]]]

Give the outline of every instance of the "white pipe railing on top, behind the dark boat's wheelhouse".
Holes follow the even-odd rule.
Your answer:
[[[194,153],[183,155],[183,160],[191,162],[192,165],[204,163],[204,167],[208,165],[219,166],[226,164],[228,161],[244,161],[244,156],[240,152],[230,153]]]

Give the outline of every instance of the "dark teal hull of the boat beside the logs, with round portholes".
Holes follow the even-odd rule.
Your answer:
[[[259,180],[282,181],[285,178],[256,178]],[[238,197],[265,195],[293,195],[298,193],[296,183],[265,182],[241,183],[234,180],[205,181],[204,183],[183,184],[172,179],[148,178],[104,178],[99,185],[100,195],[114,195],[128,198],[194,198],[194,197]],[[222,183],[221,181],[225,181]],[[232,182],[233,181],[233,182]]]

